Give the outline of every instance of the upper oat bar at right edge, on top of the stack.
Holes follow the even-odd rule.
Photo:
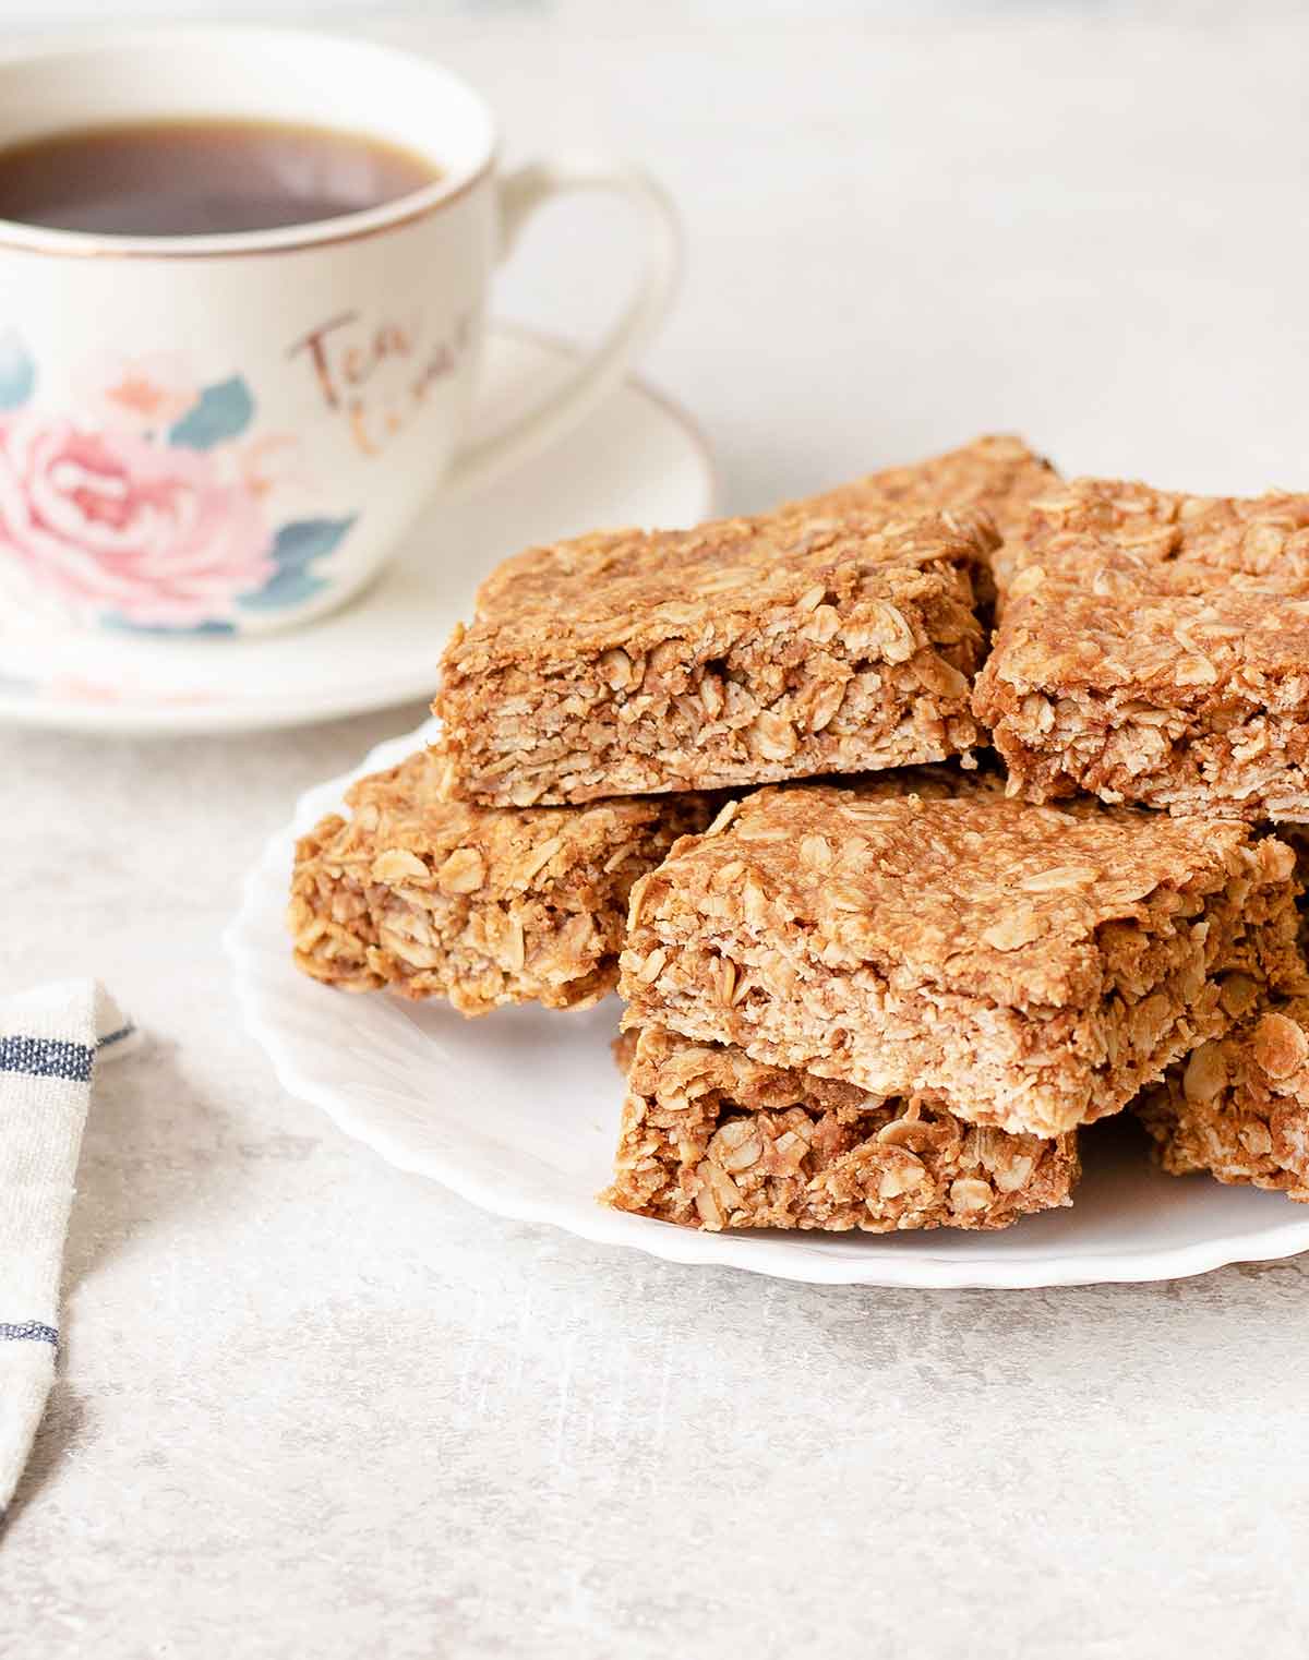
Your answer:
[[[973,710],[1028,800],[1309,818],[1309,496],[1033,506]]]

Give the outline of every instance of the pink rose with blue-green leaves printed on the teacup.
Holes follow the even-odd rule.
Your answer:
[[[256,433],[241,375],[201,385],[181,359],[105,359],[78,415],[40,407],[38,367],[0,340],[0,559],[80,618],[228,632],[301,604],[347,518],[272,521],[271,470],[294,440]]]

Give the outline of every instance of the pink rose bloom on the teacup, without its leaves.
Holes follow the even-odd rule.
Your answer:
[[[0,556],[76,611],[189,627],[274,574],[259,505],[199,450],[133,432],[0,422]]]

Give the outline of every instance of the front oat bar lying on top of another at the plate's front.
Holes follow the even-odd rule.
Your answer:
[[[761,790],[633,890],[626,1024],[1060,1135],[1289,971],[1292,863],[1234,820]]]

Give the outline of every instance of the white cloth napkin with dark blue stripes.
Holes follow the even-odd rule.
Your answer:
[[[93,979],[0,998],[0,1521],[42,1421],[91,1074],[135,1028]]]

